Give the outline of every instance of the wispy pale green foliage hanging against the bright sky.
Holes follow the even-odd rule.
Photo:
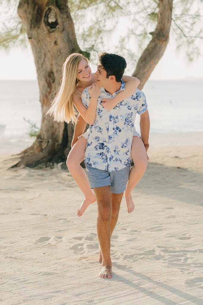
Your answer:
[[[59,5],[60,0],[49,0]],[[138,60],[151,40],[150,32],[156,27],[159,0],[69,0],[68,7],[75,24],[79,46],[96,63],[101,50],[117,52],[128,61]],[[184,48],[189,60],[200,54],[199,42],[203,38],[202,0],[174,0],[170,36],[177,49]],[[0,47],[26,44],[27,38],[19,17],[17,0],[0,4],[4,11],[0,26]],[[115,33],[116,32],[116,36]],[[134,66],[133,65],[133,66]]]

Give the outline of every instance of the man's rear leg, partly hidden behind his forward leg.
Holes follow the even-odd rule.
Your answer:
[[[110,194],[111,194],[111,204],[112,204],[112,213],[110,219],[110,236],[111,236],[118,220],[118,214],[121,206],[121,199],[123,197],[123,193],[121,194],[110,193]],[[102,263],[101,250],[99,254],[99,262]]]

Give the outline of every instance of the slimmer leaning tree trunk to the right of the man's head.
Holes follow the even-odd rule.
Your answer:
[[[173,0],[159,0],[158,8],[156,29],[150,33],[152,40],[140,56],[136,69],[132,74],[132,76],[136,76],[140,80],[139,89],[143,88],[145,82],[163,56],[169,41]]]

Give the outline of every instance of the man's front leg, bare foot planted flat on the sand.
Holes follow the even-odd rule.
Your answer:
[[[112,213],[110,187],[103,186],[94,188],[97,206],[97,236],[103,257],[102,271],[99,276],[101,278],[112,278],[112,264],[110,258],[110,220]]]

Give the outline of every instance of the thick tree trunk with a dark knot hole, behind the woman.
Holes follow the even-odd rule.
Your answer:
[[[20,0],[18,15],[34,56],[42,120],[35,142],[19,154],[21,160],[14,166],[59,163],[65,161],[71,148],[74,126],[54,122],[46,111],[60,86],[61,67],[65,59],[73,52],[84,52],[77,44],[66,0]]]

